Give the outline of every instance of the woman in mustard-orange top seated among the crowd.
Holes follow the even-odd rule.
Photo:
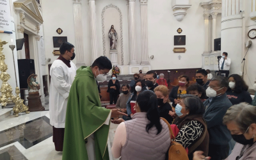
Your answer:
[[[173,87],[169,95],[169,99],[172,102],[173,108],[175,108],[175,106],[180,102],[181,95],[188,93],[187,88],[189,86],[189,77],[186,75],[182,75],[179,76],[178,79],[178,86]]]

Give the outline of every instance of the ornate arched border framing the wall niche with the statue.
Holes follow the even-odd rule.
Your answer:
[[[121,63],[124,65],[124,44],[123,44],[123,17],[122,12],[118,8],[118,6],[115,6],[113,4],[109,4],[108,6],[105,6],[101,12],[101,26],[102,26],[102,44],[103,44],[103,55],[106,56],[106,37],[105,37],[105,25],[104,25],[104,13],[108,8],[116,8],[119,12],[120,16],[120,42],[121,42]]]

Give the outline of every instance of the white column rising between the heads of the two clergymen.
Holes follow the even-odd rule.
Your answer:
[[[76,67],[85,66],[81,0],[73,0],[76,37]]]

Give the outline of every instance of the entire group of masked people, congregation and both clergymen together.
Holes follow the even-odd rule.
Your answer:
[[[50,122],[63,159],[109,159],[110,123],[119,124],[111,152],[122,160],[168,159],[177,154],[170,152],[172,141],[188,159],[256,159],[256,100],[241,76],[228,76],[227,52],[220,63],[224,76],[200,69],[193,84],[181,75],[171,86],[163,73],[140,70],[130,84],[120,86],[118,75],[111,74],[109,104],[115,109],[101,106],[98,90],[111,61],[100,56],[76,71],[70,61],[74,45],[64,43],[60,52],[50,71]]]

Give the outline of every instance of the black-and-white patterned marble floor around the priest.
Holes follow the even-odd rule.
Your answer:
[[[8,108],[7,108],[8,109]],[[0,159],[2,160],[59,160],[62,152],[57,152],[52,143],[52,127],[49,124],[49,111],[20,113],[18,117],[12,111],[1,109],[5,117],[0,119]],[[9,115],[6,116],[6,113]],[[109,130],[109,159],[111,145],[118,125],[111,124]],[[113,159],[116,160],[116,159]]]

